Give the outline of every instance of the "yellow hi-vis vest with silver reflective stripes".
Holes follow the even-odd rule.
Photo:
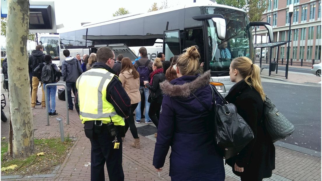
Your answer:
[[[125,125],[123,118],[106,100],[106,89],[113,76],[116,75],[106,69],[90,69],[77,79],[76,87],[82,123],[101,120],[106,124],[110,122],[111,117],[115,125]]]

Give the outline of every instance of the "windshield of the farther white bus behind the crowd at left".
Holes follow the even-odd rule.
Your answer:
[[[40,41],[43,45],[43,53],[51,55],[52,59],[59,59],[59,35],[57,36],[42,36]]]

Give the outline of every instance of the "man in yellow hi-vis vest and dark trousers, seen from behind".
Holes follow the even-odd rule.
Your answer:
[[[131,100],[112,70],[114,52],[98,49],[97,62],[76,81],[80,118],[91,143],[91,180],[124,180],[122,139],[124,119],[130,115]]]

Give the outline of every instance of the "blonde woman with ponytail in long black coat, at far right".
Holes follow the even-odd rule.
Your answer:
[[[236,84],[225,99],[235,104],[238,114],[251,127],[254,139],[238,155],[227,159],[226,163],[242,181],[269,178],[275,169],[275,147],[262,123],[265,94],[260,80],[260,67],[247,57],[237,57],[230,64],[229,75]]]

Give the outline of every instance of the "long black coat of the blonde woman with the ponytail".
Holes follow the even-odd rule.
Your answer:
[[[264,102],[260,94],[244,80],[236,83],[225,99],[235,104],[237,112],[248,123],[254,133],[254,139],[235,157],[226,160],[234,174],[262,180],[272,175],[275,169],[275,147],[268,133],[264,131]],[[244,167],[244,172],[234,171],[235,163]]]

